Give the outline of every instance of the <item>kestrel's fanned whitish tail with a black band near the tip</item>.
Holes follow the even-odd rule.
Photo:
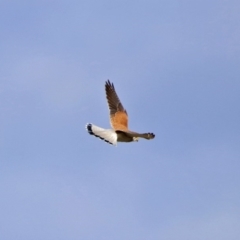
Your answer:
[[[97,127],[91,123],[88,123],[86,125],[86,129],[90,135],[98,137],[112,145],[117,145],[117,134],[115,133],[114,130],[103,129],[103,128]]]

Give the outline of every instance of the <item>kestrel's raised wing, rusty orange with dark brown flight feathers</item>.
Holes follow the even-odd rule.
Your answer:
[[[115,130],[128,130],[128,115],[120,102],[113,83],[109,80],[105,84],[108,107],[110,110],[110,123]]]

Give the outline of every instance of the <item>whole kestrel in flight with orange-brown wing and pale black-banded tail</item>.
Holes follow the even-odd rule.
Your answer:
[[[109,80],[105,83],[105,91],[110,111],[110,124],[112,129],[103,129],[91,123],[86,125],[90,135],[94,135],[105,142],[117,145],[117,142],[134,142],[139,138],[153,139],[153,133],[136,133],[128,129],[128,115],[120,102],[113,83]]]

